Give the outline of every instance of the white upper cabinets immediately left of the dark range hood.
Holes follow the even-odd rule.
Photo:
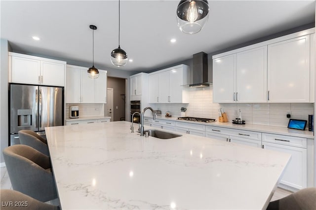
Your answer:
[[[189,103],[189,66],[179,65],[149,74],[149,103]]]

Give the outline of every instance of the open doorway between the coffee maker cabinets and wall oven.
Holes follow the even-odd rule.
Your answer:
[[[110,93],[108,93],[108,99],[111,98],[111,89],[113,90],[113,106],[111,106],[111,99],[109,101],[109,109],[105,110],[106,113],[112,112],[109,114],[113,114],[111,121],[120,121],[125,120],[125,78],[118,78],[118,77],[112,77],[108,76],[107,79],[107,86],[108,89],[110,89]],[[110,95],[109,95],[110,94]],[[107,105],[108,108],[108,105]],[[110,110],[112,109],[112,110]]]

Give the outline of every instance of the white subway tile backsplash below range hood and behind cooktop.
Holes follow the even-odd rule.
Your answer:
[[[186,116],[213,118],[218,120],[218,109],[224,107],[229,121],[237,118],[240,109],[242,120],[247,124],[287,127],[288,118],[308,120],[314,114],[313,103],[262,103],[262,104],[217,104],[213,103],[213,87],[189,88],[190,104],[150,104],[161,114],[169,111],[172,116],[180,116],[181,107],[186,107]]]

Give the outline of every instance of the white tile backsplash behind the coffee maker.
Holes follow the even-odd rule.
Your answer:
[[[69,117],[69,106],[79,106],[80,117],[104,116],[104,104],[66,104],[65,116]]]

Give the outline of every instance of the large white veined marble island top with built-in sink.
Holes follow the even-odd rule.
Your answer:
[[[188,134],[145,138],[129,128],[125,121],[45,128],[62,210],[265,209],[290,158]]]

